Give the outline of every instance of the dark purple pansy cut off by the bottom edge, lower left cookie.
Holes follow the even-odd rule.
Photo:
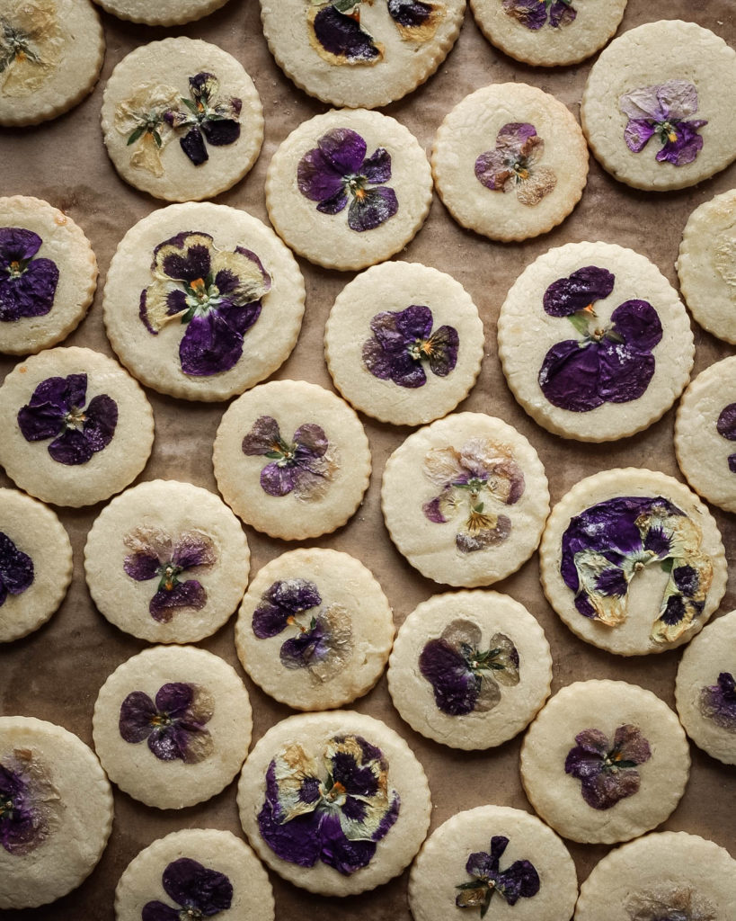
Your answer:
[[[167,866],[161,884],[172,902],[147,902],[142,921],[197,921],[225,912],[233,904],[233,884],[224,873],[203,867],[190,857],[179,857]]]

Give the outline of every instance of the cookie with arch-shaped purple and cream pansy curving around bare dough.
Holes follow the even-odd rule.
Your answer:
[[[692,639],[728,577],[707,507],[673,477],[634,468],[595,473],[560,499],[539,565],[546,598],[570,630],[621,656]]]

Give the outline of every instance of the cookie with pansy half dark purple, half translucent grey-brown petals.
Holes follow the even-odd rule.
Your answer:
[[[401,717],[459,749],[512,739],[544,704],[552,658],[544,630],[508,595],[434,595],[408,615],[388,666]]]

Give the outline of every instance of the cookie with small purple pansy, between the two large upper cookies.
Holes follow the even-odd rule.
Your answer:
[[[420,357],[407,361],[418,344]],[[383,262],[358,275],[339,293],[325,327],[325,357],[340,393],[396,426],[454,410],[476,382],[483,346],[483,323],[465,288],[418,262]]]

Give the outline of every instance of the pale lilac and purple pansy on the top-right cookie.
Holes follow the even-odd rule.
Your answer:
[[[697,90],[687,80],[668,80],[650,87],[637,87],[618,99],[620,110],[627,116],[624,130],[627,147],[638,154],[656,134],[661,143],[657,151],[660,163],[682,167],[692,163],[703,146],[697,134],[706,125],[703,119],[686,122],[697,111]]]

